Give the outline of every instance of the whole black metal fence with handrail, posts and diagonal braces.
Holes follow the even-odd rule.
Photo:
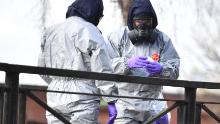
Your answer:
[[[88,94],[88,93],[79,93],[79,92],[49,91],[46,88],[37,87],[37,86],[22,86],[19,85],[20,73],[117,81],[118,83],[128,82],[135,84],[183,87],[185,88],[183,100],[172,100],[172,99],[168,100],[168,101],[174,101],[175,103],[166,110],[159,113],[157,116],[147,120],[145,124],[151,124],[156,119],[160,118],[161,116],[165,115],[166,113],[172,111],[175,108],[178,108],[178,112],[177,112],[178,124],[200,124],[202,109],[206,111],[213,119],[215,119],[217,122],[220,123],[220,118],[216,116],[216,114],[213,113],[206,106],[206,104],[219,104],[219,103],[196,101],[196,90],[198,88],[220,89],[220,83],[125,76],[125,75],[116,75],[116,74],[13,65],[7,63],[0,63],[0,71],[4,71],[6,73],[5,84],[0,85],[0,123],[1,124],[25,123],[26,96],[33,99],[37,104],[39,104],[41,107],[52,113],[54,116],[56,116],[65,124],[70,124],[68,120],[66,120],[63,116],[59,115],[59,113],[57,113],[55,110],[49,107],[45,102],[43,102],[41,99],[35,96],[32,93],[32,91],[111,96],[111,95]],[[161,100],[161,101],[164,100],[164,99],[152,99],[152,98],[129,97],[129,96],[111,96],[111,97]]]

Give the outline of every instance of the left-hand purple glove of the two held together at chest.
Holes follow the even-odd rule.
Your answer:
[[[132,57],[128,59],[127,64],[129,68],[143,68],[147,64],[147,57]]]

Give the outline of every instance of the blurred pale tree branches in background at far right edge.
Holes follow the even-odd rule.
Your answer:
[[[204,0],[196,4],[196,26],[192,27],[193,39],[202,50],[203,56],[197,56],[205,68],[199,73],[210,81],[220,81],[220,2],[218,0]]]

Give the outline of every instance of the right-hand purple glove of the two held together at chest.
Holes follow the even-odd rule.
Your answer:
[[[151,62],[151,61],[147,61],[147,65],[145,67],[148,70],[148,72],[150,73],[150,75],[159,74],[163,69],[163,67],[160,63]]]

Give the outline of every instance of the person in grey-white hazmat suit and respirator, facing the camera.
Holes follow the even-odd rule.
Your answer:
[[[133,0],[127,27],[107,37],[114,73],[177,79],[180,58],[171,39],[156,29],[157,16],[149,0]],[[163,98],[162,86],[117,83],[118,95]],[[119,98],[110,105],[115,124],[142,124],[167,108],[166,101]],[[117,113],[116,113],[117,112]],[[114,116],[114,115],[113,115]],[[168,124],[168,114],[154,124]]]

